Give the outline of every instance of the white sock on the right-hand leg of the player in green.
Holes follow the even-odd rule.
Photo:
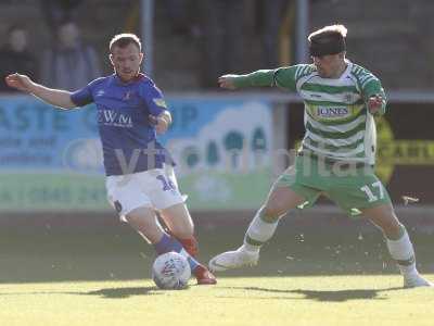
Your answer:
[[[386,239],[388,252],[398,264],[399,271],[404,276],[418,274],[416,269],[414,249],[403,226],[404,235],[398,240]]]

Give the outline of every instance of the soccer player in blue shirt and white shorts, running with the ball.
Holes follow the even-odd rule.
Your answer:
[[[167,130],[171,116],[159,89],[140,73],[140,39],[133,34],[116,35],[110,42],[110,53],[114,74],[74,92],[47,88],[17,73],[5,80],[10,87],[62,110],[95,103],[108,201],[157,254],[183,254],[197,284],[214,285],[215,276],[194,259],[197,242],[193,222],[177,187],[174,162],[156,140],[156,134]],[[158,224],[155,212],[168,233]]]

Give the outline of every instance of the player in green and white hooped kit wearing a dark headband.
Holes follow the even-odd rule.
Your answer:
[[[213,258],[212,271],[256,264],[261,244],[272,237],[280,217],[298,205],[314,204],[324,193],[344,210],[361,212],[382,229],[405,287],[433,286],[419,275],[406,228],[373,173],[373,115],[385,113],[386,97],[373,74],[345,58],[346,33],[343,25],[333,25],[310,34],[312,64],[218,79],[227,89],[279,86],[297,91],[305,103],[306,134],[295,164],[272,186],[248,226],[243,246]]]

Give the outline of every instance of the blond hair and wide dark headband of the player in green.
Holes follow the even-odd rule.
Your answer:
[[[345,37],[347,29],[344,25],[326,26],[311,33],[309,52],[312,57],[337,54],[346,50]]]

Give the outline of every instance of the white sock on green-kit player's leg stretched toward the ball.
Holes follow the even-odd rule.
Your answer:
[[[264,211],[265,206],[257,211],[245,234],[243,248],[247,251],[259,251],[264,242],[271,239],[278,227],[280,217],[276,222],[266,222],[264,221]]]

